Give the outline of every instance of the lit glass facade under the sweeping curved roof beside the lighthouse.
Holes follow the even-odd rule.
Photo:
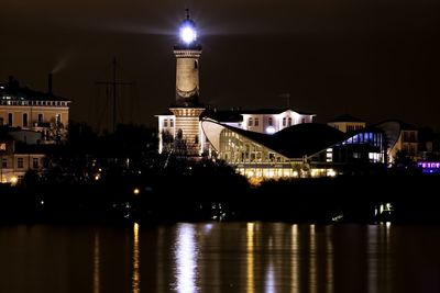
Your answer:
[[[208,140],[216,142],[212,146],[218,158],[249,178],[333,177],[346,171],[382,168],[386,161],[386,139],[376,129],[366,128],[354,135],[342,136],[345,138],[333,140],[337,143],[318,151],[314,150],[317,146],[310,144],[310,149],[288,153],[290,146],[295,148],[301,145],[300,139],[315,139],[322,145],[321,138],[318,134],[314,135],[312,127],[307,128],[311,131],[307,135],[278,139],[271,135],[255,136],[252,132],[217,122],[204,123]],[[290,140],[289,147],[286,148],[287,142],[284,139]]]

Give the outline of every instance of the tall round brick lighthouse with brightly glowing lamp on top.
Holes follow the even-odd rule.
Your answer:
[[[197,42],[195,22],[186,18],[179,27],[179,41],[174,46],[176,56],[176,101],[170,113],[158,115],[158,151],[174,151],[183,156],[200,156],[205,142],[200,114],[205,108],[199,102],[199,57],[201,45]],[[173,137],[173,139],[169,139]],[[169,143],[172,142],[172,143]]]

